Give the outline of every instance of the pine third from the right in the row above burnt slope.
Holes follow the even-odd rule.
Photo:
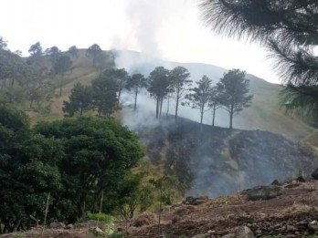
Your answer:
[[[191,88],[192,93],[187,94],[186,98],[190,101],[192,109],[200,110],[200,124],[202,129],[202,121],[205,112],[209,109],[208,103],[212,94],[212,79],[203,76],[198,82],[197,87]]]

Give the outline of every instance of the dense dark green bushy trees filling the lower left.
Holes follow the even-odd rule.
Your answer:
[[[42,122],[0,108],[0,220],[4,232],[43,221],[76,222],[86,212],[115,212],[125,174],[143,156],[137,138],[114,119]]]

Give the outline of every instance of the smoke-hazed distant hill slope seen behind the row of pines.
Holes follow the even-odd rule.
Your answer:
[[[186,67],[191,73],[191,78],[194,81],[202,78],[203,75],[212,78],[213,84],[216,84],[223,74],[228,72],[228,69],[223,67],[216,67],[200,63],[177,63],[164,61],[154,57],[143,55],[139,52],[128,50],[116,50],[115,62],[116,67],[125,67],[129,73],[140,72],[145,76],[157,66],[166,68],[173,68],[176,66]],[[249,72],[248,72],[249,73]],[[274,133],[279,133],[286,137],[300,140],[312,132],[312,128],[302,123],[299,119],[292,119],[286,116],[284,111],[279,106],[279,93],[281,85],[271,84],[262,78],[257,78],[253,75],[247,75],[250,79],[250,93],[254,95],[252,105],[250,108],[243,110],[234,118],[234,127],[237,129],[261,129],[268,130]],[[145,123],[153,119],[145,119],[146,117],[153,117],[154,115],[154,102],[149,98],[149,94],[144,92],[138,99],[139,110],[143,111],[143,116],[138,113],[132,119],[131,111],[128,113],[127,119],[123,118],[123,123],[132,127],[137,126],[138,123]],[[132,103],[132,98],[129,95],[125,97],[125,104]],[[170,113],[174,113],[174,102],[170,103]],[[166,103],[164,104],[163,111],[166,111]],[[129,111],[129,110],[124,110]],[[150,113],[151,112],[151,113]],[[195,109],[189,107],[180,107],[179,115],[187,119],[199,120],[199,113]],[[204,117],[205,124],[211,124],[212,116],[207,112]],[[217,109],[216,125],[219,127],[228,127],[228,112],[224,109]]]

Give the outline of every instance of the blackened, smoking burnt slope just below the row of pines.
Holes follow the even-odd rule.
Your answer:
[[[262,130],[223,129],[188,119],[163,120],[136,129],[154,164],[164,164],[185,186],[185,195],[228,195],[299,171],[309,175],[318,158],[301,144]]]

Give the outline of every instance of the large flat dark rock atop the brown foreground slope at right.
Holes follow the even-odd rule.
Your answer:
[[[283,189],[280,186],[258,186],[247,191],[249,201],[269,200],[280,196]]]

